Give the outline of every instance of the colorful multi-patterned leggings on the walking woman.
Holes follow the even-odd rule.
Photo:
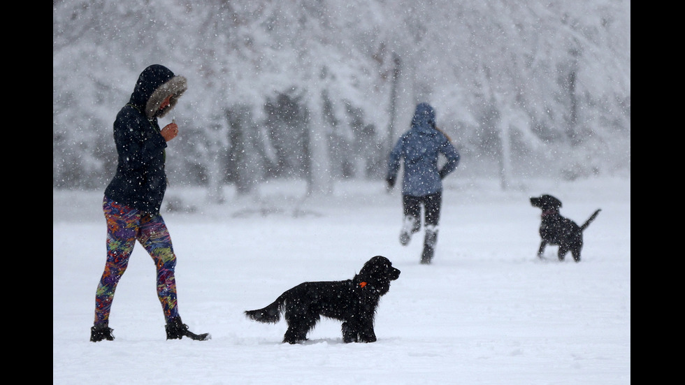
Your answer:
[[[157,296],[166,321],[178,317],[174,268],[176,256],[171,237],[161,215],[150,215],[105,197],[102,203],[107,219],[107,262],[95,293],[95,322],[109,321],[114,291],[129,265],[136,240],[152,256],[157,266]]]

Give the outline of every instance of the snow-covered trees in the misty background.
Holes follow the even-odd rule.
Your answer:
[[[217,201],[382,180],[422,101],[462,175],[630,175],[630,1],[53,0],[53,189],[106,186],[150,64],[189,84],[171,185]]]

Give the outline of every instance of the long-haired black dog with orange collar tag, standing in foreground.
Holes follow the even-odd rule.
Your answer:
[[[384,256],[368,260],[359,274],[345,281],[304,282],[282,293],[271,305],[249,310],[245,315],[255,321],[275,324],[285,312],[288,330],[283,342],[307,340],[320,316],[343,321],[343,341],[374,342],[373,319],[380,297],[390,290],[390,281],[400,270]]]

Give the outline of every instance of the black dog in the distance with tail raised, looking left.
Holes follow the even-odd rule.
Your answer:
[[[559,214],[561,201],[554,198],[554,196],[545,194],[533,197],[531,198],[531,205],[542,210],[542,223],[540,223],[540,238],[542,238],[542,242],[540,242],[540,249],[538,249],[538,257],[542,258],[542,252],[545,251],[545,246],[549,243],[549,245],[557,245],[559,247],[557,254],[559,261],[563,261],[564,256],[571,252],[573,260],[580,262],[580,250],[583,248],[583,231],[597,217],[601,209],[593,212],[582,226],[578,226],[574,221]]]

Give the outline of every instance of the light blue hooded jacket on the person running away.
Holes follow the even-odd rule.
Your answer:
[[[438,154],[447,162],[438,170]],[[389,180],[395,180],[404,159],[402,194],[426,196],[442,191],[442,178],[459,164],[459,152],[447,136],[435,127],[435,111],[428,103],[419,103],[412,126],[398,140],[388,160]]]

